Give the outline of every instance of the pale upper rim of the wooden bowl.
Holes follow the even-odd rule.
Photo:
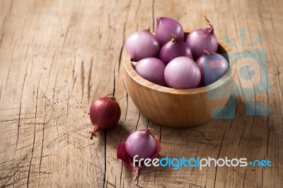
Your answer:
[[[193,30],[185,30],[185,34],[189,34]],[[225,49],[225,51],[228,53],[233,52],[233,48],[228,45],[226,42],[221,40],[220,38],[217,38],[217,42],[221,47]],[[231,63],[231,59],[229,62],[229,69],[222,76],[218,81],[210,84],[209,86],[204,86],[201,88],[190,88],[190,89],[175,89],[175,88],[169,88],[165,86],[159,86],[156,83],[152,83],[150,81],[147,81],[146,79],[142,78],[137,74],[136,71],[134,71],[134,68],[132,67],[131,64],[131,57],[129,57],[129,53],[125,51],[124,55],[124,67],[125,70],[127,71],[127,74],[134,80],[136,81],[140,86],[144,86],[146,88],[149,88],[151,90],[156,90],[162,93],[168,93],[168,94],[177,94],[177,95],[191,95],[191,94],[200,94],[200,93],[207,93],[210,90],[214,90],[215,88],[218,88],[219,86],[222,86],[224,83],[229,81],[233,75],[234,69],[233,69],[233,64]]]

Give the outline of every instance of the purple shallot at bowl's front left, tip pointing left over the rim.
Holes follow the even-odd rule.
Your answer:
[[[142,78],[160,86],[166,86],[164,79],[164,70],[166,65],[160,59],[148,57],[138,62],[132,61],[134,70],[137,71]]]

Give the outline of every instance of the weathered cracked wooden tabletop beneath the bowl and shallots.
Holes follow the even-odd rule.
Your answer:
[[[0,185],[3,187],[283,187],[283,1],[0,2]],[[270,114],[246,115],[187,129],[162,127],[137,110],[123,83],[125,40],[156,26],[158,16],[204,28],[239,52],[266,53],[270,90],[253,93]],[[241,28],[246,37],[241,40]],[[258,36],[262,40],[248,47]],[[91,141],[91,101],[115,93],[117,127]],[[117,145],[153,128],[159,158],[269,159],[272,167],[144,168],[137,181],[117,160]]]

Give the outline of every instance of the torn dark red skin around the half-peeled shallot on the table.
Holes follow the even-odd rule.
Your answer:
[[[148,131],[148,129],[138,130],[138,131]],[[156,142],[156,151],[154,151],[154,154],[151,155],[150,157],[151,159],[157,158],[161,151],[161,145],[157,139],[157,136],[154,136],[154,141]],[[117,158],[122,160],[122,162],[124,162],[124,164],[127,165],[127,168],[129,168],[129,170],[131,170],[132,172],[132,175],[134,175],[133,179],[136,180],[139,169],[144,167],[144,163],[142,162],[141,166],[137,164],[136,166],[133,166],[133,158],[129,155],[129,153],[127,153],[126,142],[119,144],[117,148]]]

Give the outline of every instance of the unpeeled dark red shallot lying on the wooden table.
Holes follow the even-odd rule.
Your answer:
[[[115,126],[121,117],[121,109],[113,95],[99,98],[91,104],[89,112],[93,130],[90,131],[91,139],[100,130],[110,129]]]

